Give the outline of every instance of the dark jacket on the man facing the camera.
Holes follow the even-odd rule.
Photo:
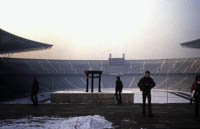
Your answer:
[[[143,92],[150,92],[151,89],[155,86],[155,82],[151,77],[143,77],[138,82],[138,87]]]

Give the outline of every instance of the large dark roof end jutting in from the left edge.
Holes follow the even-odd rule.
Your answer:
[[[0,54],[42,50],[52,46],[25,39],[0,29]]]

